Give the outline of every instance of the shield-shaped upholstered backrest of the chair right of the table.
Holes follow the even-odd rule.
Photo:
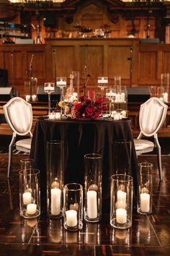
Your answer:
[[[168,106],[156,97],[140,105],[140,132],[147,137],[155,135],[164,124],[167,108]]]

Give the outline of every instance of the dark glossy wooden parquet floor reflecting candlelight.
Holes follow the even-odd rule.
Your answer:
[[[113,229],[109,216],[91,224],[84,222],[79,232],[63,229],[62,219],[50,220],[42,205],[39,219],[19,216],[19,159],[15,155],[11,179],[6,179],[7,154],[0,154],[0,255],[170,255],[170,155],[162,157],[163,181],[158,181],[156,157],[140,156],[153,163],[153,213],[133,213],[128,230]]]

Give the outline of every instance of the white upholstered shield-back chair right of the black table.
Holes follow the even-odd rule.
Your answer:
[[[159,179],[162,179],[161,173],[161,146],[158,142],[158,131],[164,124],[168,106],[159,98],[153,97],[140,105],[139,125],[140,134],[134,140],[137,155],[157,150]],[[141,137],[145,136],[145,139]],[[147,140],[148,137],[154,137],[154,142]]]

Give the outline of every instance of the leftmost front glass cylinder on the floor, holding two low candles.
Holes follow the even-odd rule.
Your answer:
[[[19,171],[20,215],[24,218],[40,216],[40,171],[35,168]]]

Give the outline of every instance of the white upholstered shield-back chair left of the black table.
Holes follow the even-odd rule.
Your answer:
[[[12,147],[15,145],[16,149],[22,152],[30,153],[31,138],[32,138],[32,106],[23,98],[14,97],[9,100],[4,106],[4,116],[9,127],[12,129],[12,140],[9,144],[9,163],[7,177],[10,176],[12,164]],[[20,139],[19,136],[24,136]],[[27,138],[29,136],[29,138]],[[19,140],[15,142],[16,138]]]

